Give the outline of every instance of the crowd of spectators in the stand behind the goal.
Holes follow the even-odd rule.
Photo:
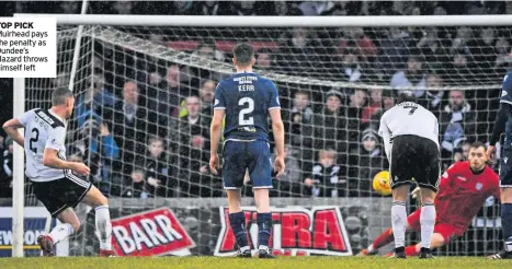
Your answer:
[[[10,2],[10,12],[79,13],[78,2]],[[190,15],[409,15],[512,13],[510,2],[92,2],[89,13]],[[458,8],[457,8],[458,7]],[[1,10],[1,9],[0,9]],[[123,28],[211,61],[229,62],[236,36],[255,42],[257,69],[288,74],[276,81],[286,128],[287,172],[274,197],[367,197],[388,168],[377,134],[380,115],[400,87],[440,120],[443,169],[465,160],[468,144],[487,141],[499,87],[512,58],[501,27],[375,28]],[[240,33],[243,33],[239,35]],[[284,33],[284,34],[282,34]],[[257,39],[255,37],[259,36]],[[261,36],[268,39],[262,42]],[[251,39],[252,38],[252,39]],[[264,38],[263,38],[264,39]],[[263,45],[262,45],[263,44]],[[94,46],[94,71],[76,89],[68,157],[91,167],[90,180],[117,197],[219,197],[207,166],[216,83],[226,74],[180,66],[115,46]],[[34,96],[67,86],[60,69]],[[294,75],[346,82],[295,83]],[[466,86],[481,85],[467,91]],[[395,89],[395,90],[389,90]],[[3,108],[0,108],[3,109]],[[77,130],[77,131],[72,131]],[[271,136],[272,137],[272,136]],[[0,197],[11,196],[12,140],[0,136]],[[247,178],[250,185],[249,178]],[[246,194],[251,191],[244,189]]]

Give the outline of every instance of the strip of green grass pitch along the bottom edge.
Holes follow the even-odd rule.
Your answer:
[[[118,268],[172,268],[172,269],[338,269],[338,268],[512,268],[512,260],[488,260],[469,257],[450,257],[421,260],[387,259],[383,257],[280,257],[274,260],[237,259],[217,257],[155,257],[155,258],[5,258],[0,259],[2,269],[21,268],[56,268],[56,269],[118,269]]]

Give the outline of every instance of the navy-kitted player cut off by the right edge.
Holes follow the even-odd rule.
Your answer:
[[[512,72],[503,79],[500,97],[500,109],[496,118],[492,137],[489,140],[487,154],[489,157],[494,151],[496,142],[502,132],[505,132],[503,150],[500,161],[501,187],[501,229],[503,231],[504,249],[490,256],[491,259],[512,259]]]

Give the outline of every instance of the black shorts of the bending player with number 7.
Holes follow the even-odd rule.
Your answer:
[[[437,191],[440,150],[434,141],[409,134],[395,137],[389,166],[391,189],[414,178],[420,187]]]

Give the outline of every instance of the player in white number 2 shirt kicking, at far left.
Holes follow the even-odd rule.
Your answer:
[[[106,198],[76,175],[89,175],[83,163],[66,161],[66,119],[73,110],[75,97],[67,89],[52,93],[52,108],[32,109],[3,125],[5,132],[25,149],[26,176],[34,186],[34,195],[53,218],[62,224],[48,235],[37,237],[44,256],[55,256],[54,245],[72,235],[80,227],[73,208],[83,202],[95,209],[95,225],[100,235],[100,256],[114,256],[111,246],[112,224]],[[25,127],[25,137],[18,132]],[[75,173],[75,174],[73,174]]]

